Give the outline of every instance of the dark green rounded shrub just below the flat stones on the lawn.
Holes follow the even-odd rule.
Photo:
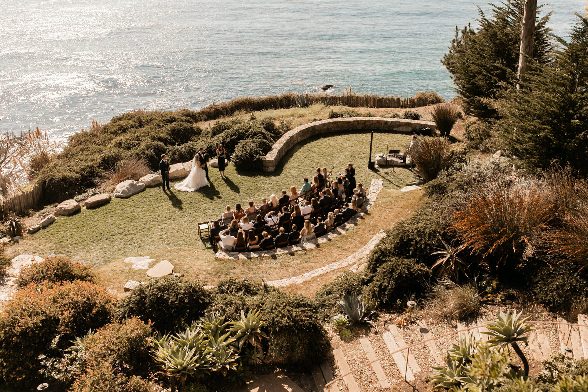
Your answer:
[[[118,303],[116,317],[151,320],[153,329],[163,334],[198,320],[211,300],[201,283],[164,276],[136,287]]]

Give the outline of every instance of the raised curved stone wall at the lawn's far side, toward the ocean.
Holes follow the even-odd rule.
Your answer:
[[[284,133],[282,138],[274,143],[272,149],[263,159],[263,171],[273,172],[286,151],[296,143],[327,132],[346,132],[349,130],[391,130],[396,132],[415,132],[430,128],[435,131],[436,125],[430,121],[403,120],[385,117],[350,117],[315,121],[300,125]]]

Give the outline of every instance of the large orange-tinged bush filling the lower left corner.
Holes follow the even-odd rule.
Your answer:
[[[0,371],[6,385],[31,390],[39,384],[39,356],[60,357],[68,340],[108,324],[115,301],[105,287],[82,281],[31,284],[14,293],[0,313]],[[52,348],[57,335],[61,344]]]

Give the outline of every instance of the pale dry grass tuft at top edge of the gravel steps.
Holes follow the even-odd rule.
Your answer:
[[[470,283],[458,285],[450,280],[440,280],[429,287],[425,306],[440,319],[474,319],[480,312],[480,294]]]

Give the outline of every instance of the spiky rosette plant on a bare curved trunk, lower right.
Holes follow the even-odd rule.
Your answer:
[[[529,324],[526,324],[530,316],[521,319],[522,314],[522,310],[518,314],[516,311],[513,311],[512,314],[510,313],[510,310],[507,310],[506,314],[501,311],[496,321],[486,323],[486,328],[488,330],[482,333],[491,337],[491,339],[488,340],[488,343],[494,346],[499,344],[507,346],[510,344],[523,363],[524,376],[526,377],[529,376],[529,362],[527,362],[527,359],[517,342],[523,341],[527,344],[527,337],[524,335],[534,330],[534,328]]]

